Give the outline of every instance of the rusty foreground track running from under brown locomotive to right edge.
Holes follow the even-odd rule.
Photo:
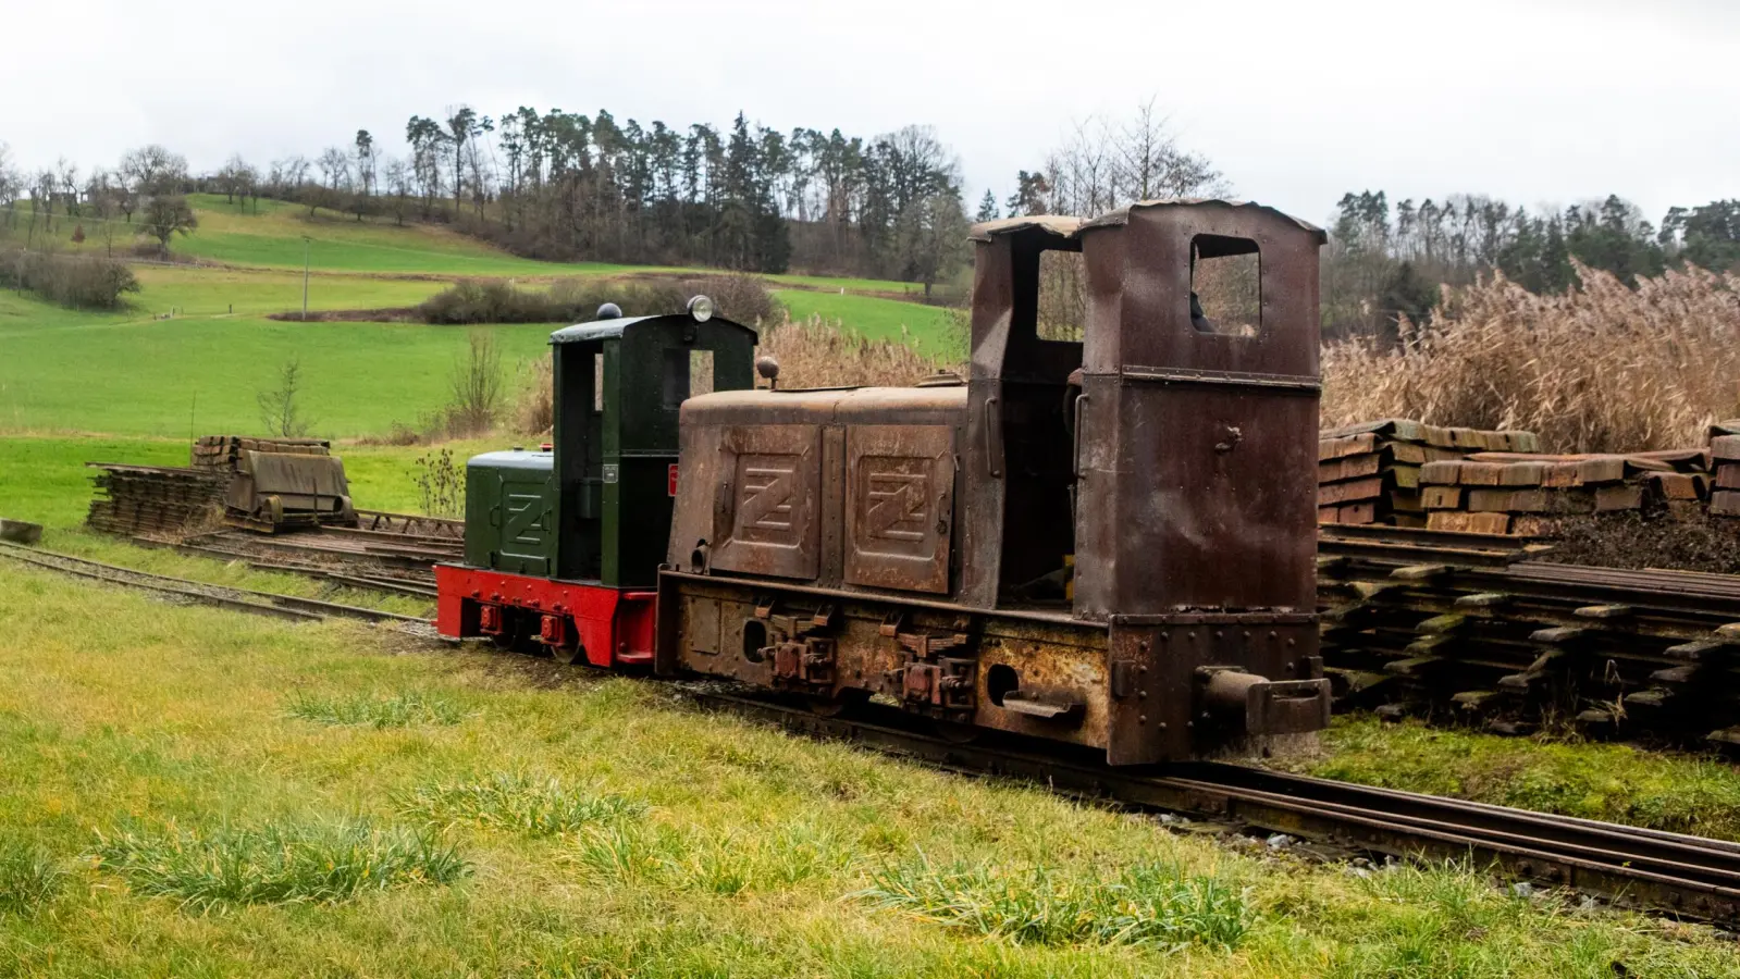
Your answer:
[[[755,697],[693,689],[687,694],[703,706],[786,730],[851,741],[950,770],[1041,783],[1136,809],[1183,812],[1354,852],[1474,859],[1512,880],[1597,894],[1615,904],[1691,920],[1740,923],[1740,843],[1724,840],[1239,765],[1199,762],[1131,772],[1056,753],[957,744]]]

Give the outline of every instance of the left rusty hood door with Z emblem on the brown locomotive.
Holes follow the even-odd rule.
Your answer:
[[[821,428],[720,430],[712,567],[814,579],[820,565]]]

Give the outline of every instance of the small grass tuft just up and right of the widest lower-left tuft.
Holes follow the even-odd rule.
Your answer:
[[[619,795],[590,795],[557,779],[534,781],[498,772],[480,783],[418,786],[395,800],[398,810],[435,824],[477,822],[534,836],[646,814],[647,807]]]

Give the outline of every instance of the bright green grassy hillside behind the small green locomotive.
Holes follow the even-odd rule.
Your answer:
[[[63,310],[0,294],[0,433],[186,436],[258,426],[254,395],[292,356],[306,377],[315,431],[386,435],[416,426],[447,396],[465,329],[416,323],[296,323],[266,318],[310,310],[379,310],[421,303],[456,278],[708,273],[618,264],[536,263],[426,224],[358,223],[299,205],[259,202],[247,212],[218,195],[191,198],[198,230],[172,242],[202,264],[136,266],[143,290],[124,313]],[[306,242],[304,242],[306,236]],[[92,242],[85,249],[94,249]],[[205,264],[211,263],[211,264]],[[774,296],[800,318],[842,322],[872,337],[908,336],[943,350],[947,311],[889,299],[905,283],[774,276]],[[903,334],[905,327],[905,334]],[[496,332],[508,367],[543,355],[546,325]]]

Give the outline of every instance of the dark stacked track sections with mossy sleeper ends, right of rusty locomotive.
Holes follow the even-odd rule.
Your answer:
[[[1354,530],[1378,529],[1319,541],[1343,706],[1740,744],[1740,576],[1549,563],[1517,536]]]

